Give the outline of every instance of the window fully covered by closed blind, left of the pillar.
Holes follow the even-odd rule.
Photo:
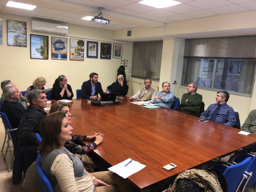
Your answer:
[[[163,41],[133,43],[132,77],[160,79]]]

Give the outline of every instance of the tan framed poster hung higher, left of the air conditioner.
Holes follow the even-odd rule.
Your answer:
[[[7,45],[27,47],[27,23],[6,20],[7,22]]]

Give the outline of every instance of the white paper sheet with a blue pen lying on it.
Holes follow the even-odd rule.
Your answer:
[[[138,161],[132,160],[132,162],[130,162],[131,160],[132,159],[128,158],[128,159],[124,160],[123,162],[120,162],[120,163],[108,168],[108,170],[110,170],[110,171],[118,174],[122,178],[126,179],[129,176],[131,176],[132,174],[134,174],[146,167],[146,165],[143,165],[143,164],[139,163]],[[128,162],[130,162],[130,163],[127,166],[125,166]]]

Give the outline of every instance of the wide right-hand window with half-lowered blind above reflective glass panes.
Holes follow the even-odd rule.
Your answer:
[[[182,85],[250,96],[256,66],[256,36],[187,39]]]

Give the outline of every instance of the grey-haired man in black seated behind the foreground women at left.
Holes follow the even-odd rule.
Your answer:
[[[38,141],[36,133],[40,134],[40,121],[47,115],[44,112],[46,107],[46,94],[44,90],[33,89],[28,93],[28,102],[30,106],[27,108],[22,122],[18,127],[16,134],[17,146],[14,148],[14,167],[12,170],[12,183],[20,184],[22,180],[22,172],[24,176],[26,170],[37,158]]]

